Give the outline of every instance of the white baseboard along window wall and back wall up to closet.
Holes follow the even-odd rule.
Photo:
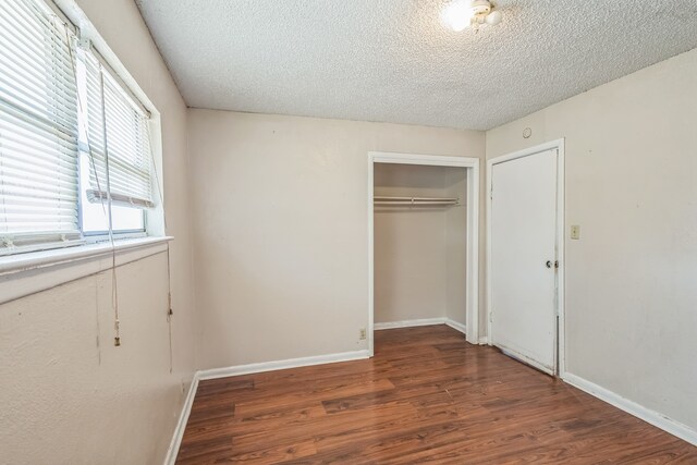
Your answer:
[[[182,438],[184,437],[184,430],[186,429],[186,421],[192,412],[192,405],[194,404],[194,397],[196,396],[196,390],[198,389],[198,381],[206,379],[227,378],[230,376],[249,375],[255,372],[282,370],[288,368],[308,367],[311,365],[333,364],[337,362],[350,362],[369,358],[368,351],[354,351],[354,352],[341,352],[338,354],[317,355],[314,357],[290,358],[286,360],[277,362],[264,362],[260,364],[237,365],[227,368],[213,368],[208,370],[199,370],[194,375],[194,380],[188,389],[186,401],[182,406],[182,413],[179,417],[176,428],[174,428],[174,435],[170,442],[170,449],[167,451],[167,457],[164,458],[164,465],[174,465],[176,462],[176,454],[179,448],[182,444]]]

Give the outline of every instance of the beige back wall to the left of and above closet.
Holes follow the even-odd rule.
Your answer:
[[[188,113],[198,366],[367,348],[369,150],[484,156],[479,132]]]

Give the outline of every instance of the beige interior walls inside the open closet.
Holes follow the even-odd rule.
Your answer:
[[[456,206],[375,206],[375,322],[465,323],[466,169],[376,163],[376,197],[451,197]]]

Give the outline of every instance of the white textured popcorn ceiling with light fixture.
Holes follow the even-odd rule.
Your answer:
[[[137,0],[189,107],[488,130],[697,47],[696,0]],[[697,78],[697,77],[696,77]]]

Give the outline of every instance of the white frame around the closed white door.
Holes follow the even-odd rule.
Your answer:
[[[515,160],[516,158],[528,157],[530,155],[539,154],[541,151],[554,150],[558,151],[557,158],[557,244],[555,252],[559,261],[559,268],[557,269],[557,283],[555,283],[555,304],[557,304],[557,334],[554,335],[554,375],[562,376],[566,371],[566,338],[565,338],[565,311],[564,311],[564,269],[566,261],[564,257],[564,241],[565,241],[565,217],[564,217],[564,139],[560,138],[551,140],[545,144],[536,145],[534,147],[517,150],[512,154],[502,155],[499,157],[487,160],[487,340],[488,344],[492,345],[492,328],[491,328],[491,188],[492,188],[492,174],[493,166],[503,163],[505,161]],[[530,360],[524,360],[533,366]]]

